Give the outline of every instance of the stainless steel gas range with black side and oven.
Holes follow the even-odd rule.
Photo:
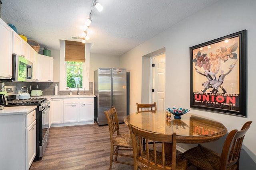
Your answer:
[[[37,106],[36,108],[36,157],[38,160],[43,156],[48,143],[50,102],[46,98],[18,99],[16,86],[5,86],[6,98],[11,106]]]

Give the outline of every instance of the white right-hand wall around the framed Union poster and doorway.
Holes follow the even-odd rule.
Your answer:
[[[240,129],[246,121],[253,121],[244,138],[243,149],[246,152],[243,154],[249,156],[255,164],[255,7],[255,0],[218,1],[122,55],[120,66],[125,66],[127,71],[130,71],[130,112],[136,111],[136,102],[141,100],[142,56],[166,48],[166,107],[190,108],[189,47],[246,29],[248,116],[244,118],[196,109],[190,109],[190,112],[216,119],[223,123],[228,131]],[[176,80],[177,83],[173,83],[172,80]],[[240,160],[241,164],[245,164],[245,161],[248,160]]]

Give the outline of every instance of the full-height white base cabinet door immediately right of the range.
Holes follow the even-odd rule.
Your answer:
[[[52,124],[63,123],[63,99],[52,99],[50,112],[52,113]]]

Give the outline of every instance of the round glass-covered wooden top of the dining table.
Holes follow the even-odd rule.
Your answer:
[[[226,135],[227,128],[220,122],[186,113],[181,119],[174,119],[164,110],[135,112],[127,115],[124,122],[146,131],[172,134],[176,132],[177,143],[207,143],[216,141]]]

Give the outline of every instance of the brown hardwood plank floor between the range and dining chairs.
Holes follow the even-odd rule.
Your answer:
[[[129,133],[120,124],[120,133]],[[132,151],[123,151],[130,152]],[[132,158],[119,157],[133,162]],[[41,160],[33,162],[30,170],[108,170],[110,135],[108,126],[79,125],[51,127],[48,145]],[[133,170],[134,167],[113,162],[113,170]]]

